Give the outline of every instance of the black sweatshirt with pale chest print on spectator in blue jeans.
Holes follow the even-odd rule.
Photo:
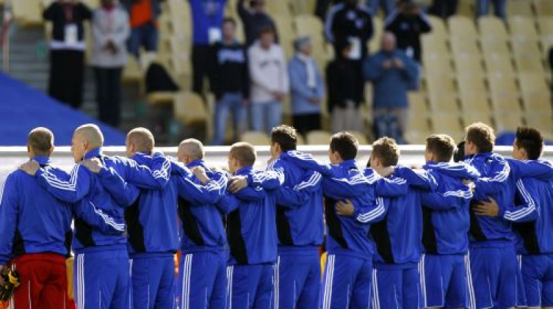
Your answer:
[[[209,84],[217,99],[225,93],[236,92],[241,92],[244,99],[250,97],[247,52],[242,44],[215,43],[209,64]]]

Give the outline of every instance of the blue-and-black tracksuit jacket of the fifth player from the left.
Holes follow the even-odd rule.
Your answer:
[[[234,175],[246,176],[248,182],[262,181],[265,171],[251,166]],[[276,183],[279,183],[277,179]],[[276,186],[275,186],[276,188]],[[272,264],[277,261],[277,224],[274,193],[250,184],[234,194],[227,192],[218,203],[227,213],[229,265]]]

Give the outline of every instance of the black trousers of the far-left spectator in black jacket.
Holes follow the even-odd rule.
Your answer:
[[[73,108],[82,106],[84,52],[50,50],[48,94]]]

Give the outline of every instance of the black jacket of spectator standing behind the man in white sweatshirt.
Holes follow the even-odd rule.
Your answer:
[[[281,0],[276,0],[281,1]],[[244,33],[246,37],[246,46],[252,46],[252,44],[259,38],[259,32],[263,28],[271,27],[274,30],[275,41],[278,43],[279,35],[277,31],[277,26],[275,26],[274,21],[266,13],[257,13],[251,10],[247,10],[244,6],[245,0],[238,0],[237,8],[238,15],[242,20],[244,25]]]

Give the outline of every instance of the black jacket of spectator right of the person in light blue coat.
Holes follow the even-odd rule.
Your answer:
[[[326,88],[328,92],[328,112],[335,107],[346,107],[346,101],[354,101],[359,106],[361,101],[356,97],[357,71],[353,66],[355,62],[348,59],[337,58],[328,63],[326,67]]]

